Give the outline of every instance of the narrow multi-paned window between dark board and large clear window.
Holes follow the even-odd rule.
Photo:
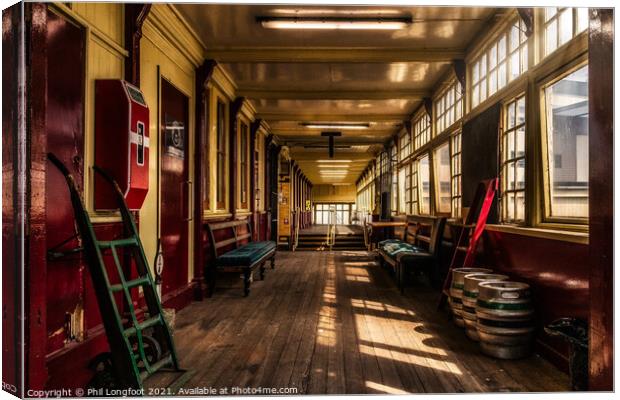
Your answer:
[[[502,221],[523,222],[525,220],[525,95],[505,105],[501,143]]]

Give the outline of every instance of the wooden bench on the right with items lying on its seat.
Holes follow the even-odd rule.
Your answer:
[[[394,269],[401,293],[405,290],[405,277],[413,269],[426,269],[431,281],[439,278],[440,251],[445,217],[411,216],[402,237],[378,243],[377,251],[384,264]],[[422,243],[425,243],[422,247]]]

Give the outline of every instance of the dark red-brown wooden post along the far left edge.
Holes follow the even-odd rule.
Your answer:
[[[27,135],[20,137],[18,145],[25,143],[29,150],[26,169],[18,168],[17,173],[26,177],[25,212],[22,217],[27,230],[21,233],[25,241],[28,257],[24,260],[24,288],[26,291],[25,313],[25,359],[28,389],[43,389],[47,380],[45,354],[47,343],[46,329],[46,237],[45,231],[45,171],[46,171],[46,107],[47,107],[47,5],[43,3],[25,4],[26,57],[26,109],[19,113],[28,124]],[[27,110],[27,111],[26,111]],[[25,142],[24,142],[25,141]],[[24,163],[20,163],[24,165]],[[18,192],[21,192],[18,190]],[[21,206],[21,205],[20,205]]]

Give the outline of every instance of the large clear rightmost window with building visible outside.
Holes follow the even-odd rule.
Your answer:
[[[588,67],[543,88],[547,218],[588,217]],[[561,160],[560,165],[555,163]]]

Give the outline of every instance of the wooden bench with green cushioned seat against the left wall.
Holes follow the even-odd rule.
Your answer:
[[[239,227],[246,226],[246,232],[238,232]],[[240,272],[243,274],[243,294],[250,294],[252,274],[260,268],[260,278],[265,279],[265,262],[270,260],[271,269],[275,268],[276,244],[271,241],[253,242],[252,227],[248,220],[236,220],[207,224],[209,240],[213,254],[213,267],[209,269],[210,292],[215,290],[215,281],[218,271]],[[230,235],[218,235],[218,231],[229,230]],[[218,232],[219,233],[219,232]],[[218,236],[228,237],[217,239]],[[247,243],[242,243],[247,240]],[[232,247],[232,248],[231,248]]]

